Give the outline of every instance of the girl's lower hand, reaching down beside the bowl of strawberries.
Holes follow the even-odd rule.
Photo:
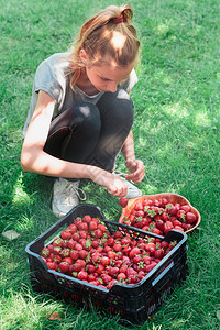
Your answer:
[[[118,196],[118,197],[127,196],[128,186],[120,178],[120,176],[98,167],[94,167],[92,169],[94,169],[94,174],[91,175],[91,179],[95,184],[106,187],[109,194],[113,196]]]

